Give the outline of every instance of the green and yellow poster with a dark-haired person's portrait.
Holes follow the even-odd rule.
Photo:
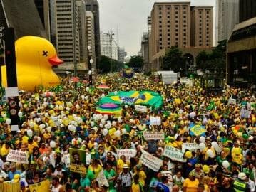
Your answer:
[[[69,149],[70,171],[86,174],[86,151],[81,149]]]

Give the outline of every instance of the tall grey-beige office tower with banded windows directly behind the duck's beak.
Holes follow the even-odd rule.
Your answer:
[[[63,67],[73,70],[74,60],[80,61],[78,8],[74,7],[73,0],[56,0],[56,12],[58,55],[65,62]]]

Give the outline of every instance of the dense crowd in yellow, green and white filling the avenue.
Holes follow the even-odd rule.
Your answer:
[[[6,103],[0,108],[0,183],[20,183],[21,191],[29,191],[30,185],[48,180],[52,192],[255,191],[254,92],[226,85],[211,93],[193,82],[163,85],[145,75],[124,79],[115,74],[98,76],[96,84],[108,85],[107,90],[65,79],[51,92],[42,87],[20,92],[16,134]],[[133,105],[122,105],[121,117],[96,114],[101,97],[121,90],[158,92],[163,106],[137,112]],[[249,117],[241,116],[242,109]],[[150,117],[160,117],[161,124],[150,125]],[[204,126],[205,133],[191,135],[190,124]],[[164,132],[165,139],[145,140],[144,131]],[[185,143],[198,144],[184,151],[185,162],[163,156],[165,146],[181,150]],[[71,156],[79,161],[71,148],[86,154],[83,174],[69,167]],[[26,152],[28,164],[6,161],[11,149]],[[136,153],[127,159],[116,155],[118,149]],[[158,171],[142,164],[143,151],[163,161]],[[98,182],[101,171],[106,184]]]

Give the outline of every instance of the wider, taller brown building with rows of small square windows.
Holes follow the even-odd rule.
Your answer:
[[[150,38],[152,55],[171,46],[190,47],[190,2],[155,3]]]

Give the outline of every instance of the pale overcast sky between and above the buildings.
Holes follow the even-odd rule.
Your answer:
[[[103,32],[113,31],[116,41],[128,55],[137,55],[140,40],[147,31],[147,17],[154,2],[177,2],[186,0],[98,0],[100,28]],[[215,6],[215,0],[190,0],[191,5]],[[118,40],[117,40],[118,31]]]

